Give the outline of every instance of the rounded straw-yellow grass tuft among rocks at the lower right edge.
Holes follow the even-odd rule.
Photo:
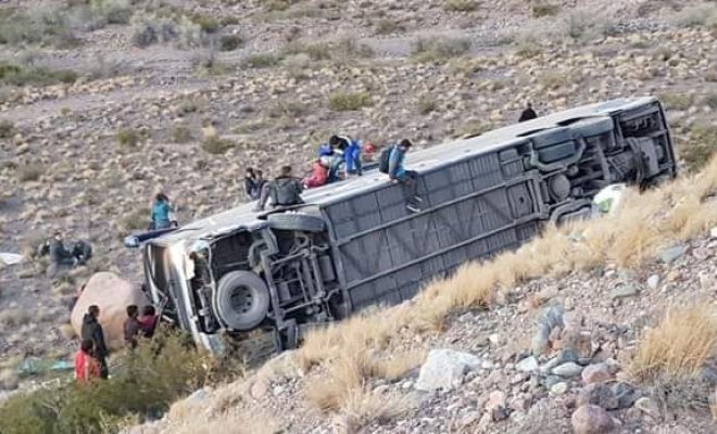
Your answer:
[[[665,378],[694,378],[715,356],[716,349],[714,306],[675,308],[645,333],[629,373],[643,384]]]

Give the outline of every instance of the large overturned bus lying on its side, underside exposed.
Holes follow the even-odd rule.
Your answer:
[[[280,347],[304,326],[413,297],[462,263],[514,248],[542,222],[591,212],[604,187],[676,175],[654,98],[586,105],[410,153],[423,209],[373,169],[311,190],[292,210],[252,204],[147,243],[147,291],[212,352],[257,329]],[[228,340],[227,340],[228,339]]]

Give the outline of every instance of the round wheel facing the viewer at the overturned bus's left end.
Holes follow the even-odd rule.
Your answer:
[[[231,271],[219,279],[216,308],[218,316],[229,328],[251,330],[268,314],[268,288],[251,271]]]

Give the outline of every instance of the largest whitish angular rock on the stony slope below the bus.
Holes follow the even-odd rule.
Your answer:
[[[482,359],[454,349],[431,349],[420,367],[416,390],[452,390],[463,384],[464,375],[480,367]]]

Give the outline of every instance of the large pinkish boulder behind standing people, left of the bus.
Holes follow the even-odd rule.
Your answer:
[[[149,304],[144,293],[112,272],[98,272],[85,285],[72,309],[71,322],[77,335],[81,335],[83,317],[91,305],[100,307],[100,323],[110,349],[124,346],[123,326],[127,319],[127,306],[137,305],[140,310]]]

